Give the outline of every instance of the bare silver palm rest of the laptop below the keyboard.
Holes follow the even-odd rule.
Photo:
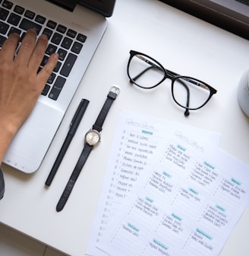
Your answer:
[[[5,154],[7,165],[32,173],[39,168],[64,114],[39,101]]]

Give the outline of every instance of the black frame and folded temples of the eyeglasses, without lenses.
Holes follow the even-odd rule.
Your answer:
[[[140,74],[136,75],[134,78],[131,78],[131,75],[129,73],[129,67],[130,67],[130,64],[131,64],[131,59],[133,59],[133,57],[136,56],[136,55],[140,56],[140,59],[142,59],[144,62],[147,62],[148,64],[150,64],[151,67],[148,67],[147,69],[143,70],[143,72],[140,72]],[[153,62],[156,63],[156,65],[154,63],[150,62],[147,59],[143,59],[143,56],[152,59]],[[142,85],[138,85],[137,82],[136,82],[136,79],[139,78],[141,75],[143,75],[145,72],[147,72],[151,68],[160,69],[162,72],[164,72],[162,80],[160,82],[158,82],[156,85],[153,85],[153,86],[150,86],[150,87],[143,87]],[[184,115],[186,117],[188,117],[188,115],[189,115],[189,110],[198,110],[198,109],[200,109],[201,107],[206,105],[206,103],[208,101],[210,101],[210,98],[213,96],[213,94],[216,94],[216,92],[217,92],[217,90],[215,88],[213,88],[210,85],[207,85],[206,82],[200,81],[197,78],[192,78],[191,76],[178,75],[177,73],[172,72],[169,69],[165,69],[162,66],[162,64],[159,63],[156,59],[153,59],[152,57],[148,56],[147,54],[140,53],[140,52],[137,52],[137,51],[134,51],[134,50],[130,50],[130,58],[128,60],[127,73],[128,73],[128,78],[130,79],[130,83],[134,84],[134,85],[137,85],[138,87],[143,88],[143,89],[155,88],[158,85],[162,84],[162,82],[164,82],[166,78],[171,79],[171,81],[172,81],[172,98],[174,99],[175,103],[178,104],[178,106],[183,107],[185,109]],[[209,88],[209,90],[210,90],[210,96],[206,99],[206,101],[200,107],[195,107],[195,108],[189,107],[189,101],[190,101],[189,89],[188,89],[187,85],[186,86],[184,85],[184,87],[186,88],[187,93],[188,93],[187,103],[186,103],[186,106],[179,104],[178,101],[175,100],[175,95],[174,95],[174,92],[173,92],[174,91],[174,83],[178,78],[181,78],[181,79],[186,80],[188,82],[192,82],[194,85],[197,85],[197,86],[200,86],[200,87],[206,86],[206,88]]]

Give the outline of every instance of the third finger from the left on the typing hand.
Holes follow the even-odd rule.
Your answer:
[[[43,60],[46,47],[48,45],[48,37],[46,37],[45,34],[42,34],[36,43],[36,48],[33,50],[32,56],[30,58],[29,66],[31,69],[37,69],[39,68],[40,63]]]

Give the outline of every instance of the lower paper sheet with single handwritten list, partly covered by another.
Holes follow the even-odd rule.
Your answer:
[[[185,142],[196,147],[198,147],[197,140],[202,141],[203,138],[215,145],[219,144],[220,136],[217,133],[121,111],[87,254],[106,255],[96,248],[96,244],[102,240],[103,232],[121,203],[131,194],[134,186],[139,184],[144,176],[147,176],[148,171],[146,170],[150,170],[150,166],[153,167],[153,158],[158,157],[161,153],[160,148],[163,149],[162,138],[172,130],[176,130],[178,136],[181,136]]]

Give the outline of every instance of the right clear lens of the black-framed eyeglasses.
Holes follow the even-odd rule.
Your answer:
[[[172,86],[175,102],[181,107],[197,109],[206,104],[210,97],[210,88],[194,78],[176,78]]]

